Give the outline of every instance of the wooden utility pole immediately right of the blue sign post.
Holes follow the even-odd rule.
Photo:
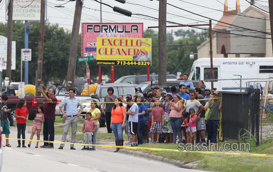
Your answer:
[[[36,95],[41,95],[39,86],[43,78],[43,53],[44,53],[44,33],[45,33],[45,0],[41,0],[41,16],[40,16],[40,31],[38,43],[38,58],[37,58],[37,76],[36,76]]]

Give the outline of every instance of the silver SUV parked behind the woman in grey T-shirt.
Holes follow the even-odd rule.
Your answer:
[[[97,89],[95,91],[95,94],[91,95],[91,98],[95,100],[96,102],[103,102],[103,99],[105,96],[107,96],[107,89],[108,87],[113,87],[114,89],[114,95],[118,97],[118,95],[123,95],[123,97],[126,97],[127,94],[135,95],[135,86],[131,83],[108,83],[108,84],[99,84],[97,86]],[[90,101],[92,101],[90,99]],[[89,103],[84,103],[86,105],[84,107],[84,110],[82,111],[82,114],[86,114]],[[98,103],[99,109],[101,110],[102,103]],[[99,125],[100,127],[105,126],[105,115],[101,114],[101,118],[99,119]]]

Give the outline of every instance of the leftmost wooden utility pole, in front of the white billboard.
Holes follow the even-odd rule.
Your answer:
[[[11,80],[11,49],[12,49],[12,14],[13,14],[13,0],[9,0],[8,5],[8,19],[7,19],[7,68],[6,68],[6,77]]]

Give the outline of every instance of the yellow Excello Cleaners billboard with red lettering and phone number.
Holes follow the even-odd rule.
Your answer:
[[[151,66],[151,38],[97,38],[97,65]]]

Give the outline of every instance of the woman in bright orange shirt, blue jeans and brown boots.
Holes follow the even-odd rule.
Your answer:
[[[115,99],[115,105],[112,108],[112,117],[110,127],[113,130],[116,140],[116,146],[123,146],[123,129],[126,124],[126,109],[122,105],[120,98]],[[114,152],[118,152],[120,148],[117,148]]]

